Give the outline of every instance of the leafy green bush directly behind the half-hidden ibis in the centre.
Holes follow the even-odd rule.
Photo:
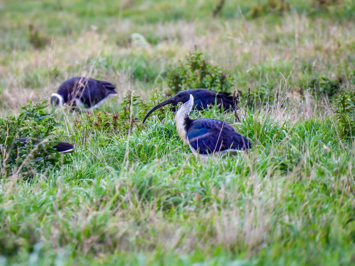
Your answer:
[[[220,68],[202,59],[202,53],[190,52],[185,56],[186,63],[179,62],[178,66],[168,68],[168,86],[173,93],[180,90],[204,88],[214,91],[228,91],[234,79]]]

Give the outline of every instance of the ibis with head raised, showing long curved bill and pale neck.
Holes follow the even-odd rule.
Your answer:
[[[180,138],[190,146],[193,154],[207,156],[236,153],[251,147],[250,141],[225,121],[211,118],[191,119],[189,113],[193,107],[193,96],[186,90],[154,106],[142,123],[158,108],[178,102],[182,102],[182,105],[175,115],[176,130]]]

